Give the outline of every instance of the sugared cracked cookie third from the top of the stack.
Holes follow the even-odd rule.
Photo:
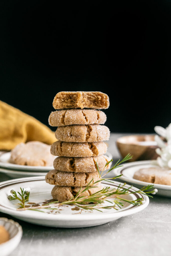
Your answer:
[[[67,125],[59,126],[55,137],[65,142],[98,142],[109,140],[110,131],[105,125]]]

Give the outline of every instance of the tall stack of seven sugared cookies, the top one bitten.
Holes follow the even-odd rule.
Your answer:
[[[93,179],[99,179],[96,166],[102,171],[109,161],[104,154],[107,146],[103,141],[109,139],[110,131],[101,125],[106,121],[103,111],[107,109],[109,98],[102,92],[59,92],[53,100],[57,111],[49,116],[49,125],[58,126],[55,137],[58,141],[51,146],[54,170],[46,175],[46,182],[55,185],[52,197],[60,202],[70,200]],[[110,168],[108,164],[105,169]],[[89,196],[102,189],[97,183],[80,195]]]

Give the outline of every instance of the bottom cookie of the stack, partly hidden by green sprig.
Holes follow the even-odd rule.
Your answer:
[[[79,189],[80,189],[80,187],[54,186],[51,194],[52,194],[53,199],[58,200],[59,202],[64,202],[64,201],[68,201],[71,198],[73,198],[78,193]],[[81,188],[79,196],[88,197],[88,196],[96,193],[97,191],[102,190],[103,186],[99,185],[95,188],[90,188],[90,189],[84,191],[83,193],[81,193],[81,191],[83,191],[84,189],[85,189],[85,187]]]

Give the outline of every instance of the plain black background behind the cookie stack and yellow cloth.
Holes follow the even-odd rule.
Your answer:
[[[170,118],[171,1],[2,1],[1,97],[48,125],[59,91],[102,91],[111,132]]]

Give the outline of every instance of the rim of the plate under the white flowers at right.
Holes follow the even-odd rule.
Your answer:
[[[142,160],[142,161],[135,161],[135,162],[129,162],[129,163],[125,163],[123,164],[122,167],[114,169],[114,174],[116,176],[122,174],[121,172],[126,169],[126,168],[130,168],[131,166],[138,166],[138,165],[145,165],[145,164],[150,164],[154,162],[154,160]],[[119,179],[126,181],[126,182],[132,182],[133,184],[137,184],[137,185],[142,185],[142,186],[147,186],[147,185],[154,185],[155,188],[158,189],[162,189],[162,190],[171,190],[171,186],[169,185],[163,185],[163,184],[156,184],[156,183],[150,183],[150,182],[145,182],[145,181],[141,181],[138,179],[134,179],[134,178],[129,178],[127,176],[125,176],[124,174],[119,177]]]

